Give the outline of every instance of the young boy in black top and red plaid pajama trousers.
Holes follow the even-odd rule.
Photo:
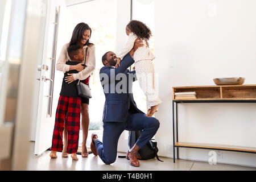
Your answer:
[[[66,63],[68,65],[77,65],[84,60],[84,52],[78,45],[68,47],[68,56],[72,60]],[[78,71],[71,70],[64,74],[56,110],[51,154],[49,155],[51,158],[57,158],[56,151],[63,151],[63,130],[66,122],[65,126],[68,129],[68,140],[65,141],[67,142],[67,153],[71,154],[73,160],[78,160],[76,153],[79,145],[81,98],[77,95],[76,85],[79,80],[70,84],[65,81],[65,77],[71,73],[78,73]]]

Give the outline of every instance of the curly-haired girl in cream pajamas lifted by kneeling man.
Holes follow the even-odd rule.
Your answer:
[[[155,59],[155,56],[146,44],[146,40],[151,37],[151,30],[146,24],[138,20],[131,20],[126,26],[126,34],[129,36],[129,39],[122,51],[118,53],[118,61],[115,67],[117,68],[123,57],[131,51],[135,40],[140,38],[144,43],[144,46],[139,47],[137,51],[134,52],[133,59],[135,61],[136,76],[139,81],[139,86],[141,86],[146,95],[147,117],[151,117],[162,102],[158,97],[154,86],[155,68],[152,60]]]

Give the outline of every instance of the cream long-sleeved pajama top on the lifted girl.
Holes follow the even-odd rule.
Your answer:
[[[119,57],[121,60],[123,59],[123,57],[125,55],[127,55],[127,53],[129,53],[131,51],[131,49],[133,49],[133,46],[134,46],[134,42],[135,40],[138,38],[137,35],[133,34],[133,32],[131,32],[129,34],[129,38],[128,38],[128,41],[127,43],[125,44],[125,47],[123,47],[122,51],[119,52],[117,54],[117,57]],[[150,49],[147,47],[147,44],[146,44],[146,40],[142,40],[144,46],[142,47],[139,47],[135,52],[134,52],[134,55],[133,55],[133,59],[135,62],[137,61],[140,61],[140,60],[145,60],[145,59],[148,59],[148,60],[153,60],[155,59],[155,56],[154,54],[150,51]]]

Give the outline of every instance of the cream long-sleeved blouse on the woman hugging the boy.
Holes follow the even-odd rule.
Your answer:
[[[63,73],[68,72],[70,68],[70,65],[66,64],[67,61],[71,60],[70,57],[68,56],[68,51],[67,51],[68,46],[69,46],[69,43],[63,46],[60,52],[59,59],[56,64],[57,71],[62,71]],[[96,65],[95,46],[94,45],[84,46],[82,48],[84,50],[84,53],[85,53],[86,47],[88,47],[86,67],[81,72],[73,74],[74,80],[77,80],[77,79],[85,80],[92,74],[92,72],[95,69],[95,65]]]

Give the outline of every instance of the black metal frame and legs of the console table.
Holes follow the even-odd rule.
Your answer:
[[[176,142],[179,141],[179,139],[178,139],[179,134],[178,134],[178,120],[177,120],[177,104],[178,103],[210,103],[210,102],[215,102],[215,103],[232,103],[232,102],[247,103],[247,102],[253,102],[253,103],[256,103],[256,100],[172,100],[172,132],[173,132],[173,142],[174,142],[174,163],[175,163],[175,147],[177,147],[177,159],[179,159],[179,147],[200,148],[200,149],[209,149],[209,150],[213,149],[213,148],[207,148],[207,147],[175,146],[175,118],[176,118]],[[174,103],[175,103],[175,106],[176,106],[175,109],[174,109]],[[256,152],[250,152],[250,151],[226,150],[226,149],[218,149],[218,148],[214,148],[214,150],[246,152],[246,153],[256,154]]]

